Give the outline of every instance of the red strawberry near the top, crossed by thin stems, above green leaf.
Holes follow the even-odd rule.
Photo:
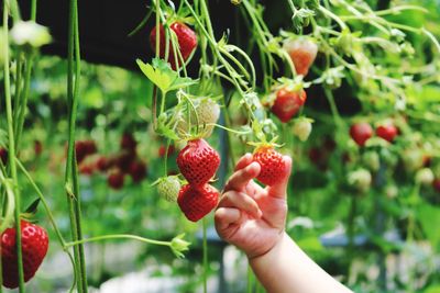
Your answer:
[[[186,61],[197,47],[197,35],[191,29],[189,29],[186,24],[182,22],[174,22],[169,26],[169,29],[176,34],[178,42],[178,48],[176,49],[180,50],[182,57]],[[150,33],[150,45],[153,52],[156,52],[156,26],[154,26]],[[170,41],[168,47],[169,47],[168,61],[172,65],[172,68],[176,69],[176,64],[180,64],[180,59],[178,56],[174,56],[174,50]],[[161,58],[165,57],[165,49],[166,49],[165,32],[164,27],[161,25],[160,26]]]

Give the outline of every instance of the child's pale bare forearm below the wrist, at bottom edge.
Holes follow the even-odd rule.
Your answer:
[[[315,263],[287,235],[250,264],[270,293],[352,292]]]

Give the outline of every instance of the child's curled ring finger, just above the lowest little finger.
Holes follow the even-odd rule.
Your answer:
[[[257,203],[251,196],[242,192],[226,192],[220,200],[219,207],[235,207],[240,211],[246,212],[253,217],[262,216],[262,211]]]

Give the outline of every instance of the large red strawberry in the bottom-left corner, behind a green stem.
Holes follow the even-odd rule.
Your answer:
[[[48,248],[48,237],[44,228],[21,221],[21,240],[24,281],[35,275]],[[19,286],[18,256],[15,246],[15,228],[7,228],[1,235],[1,264],[3,285],[14,289]]]

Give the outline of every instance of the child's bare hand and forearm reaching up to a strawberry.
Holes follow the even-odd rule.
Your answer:
[[[285,233],[292,159],[287,156],[283,159],[283,180],[266,188],[253,180],[261,167],[252,161],[252,155],[239,160],[216,211],[218,234],[244,251],[270,293],[352,292],[323,271]]]

